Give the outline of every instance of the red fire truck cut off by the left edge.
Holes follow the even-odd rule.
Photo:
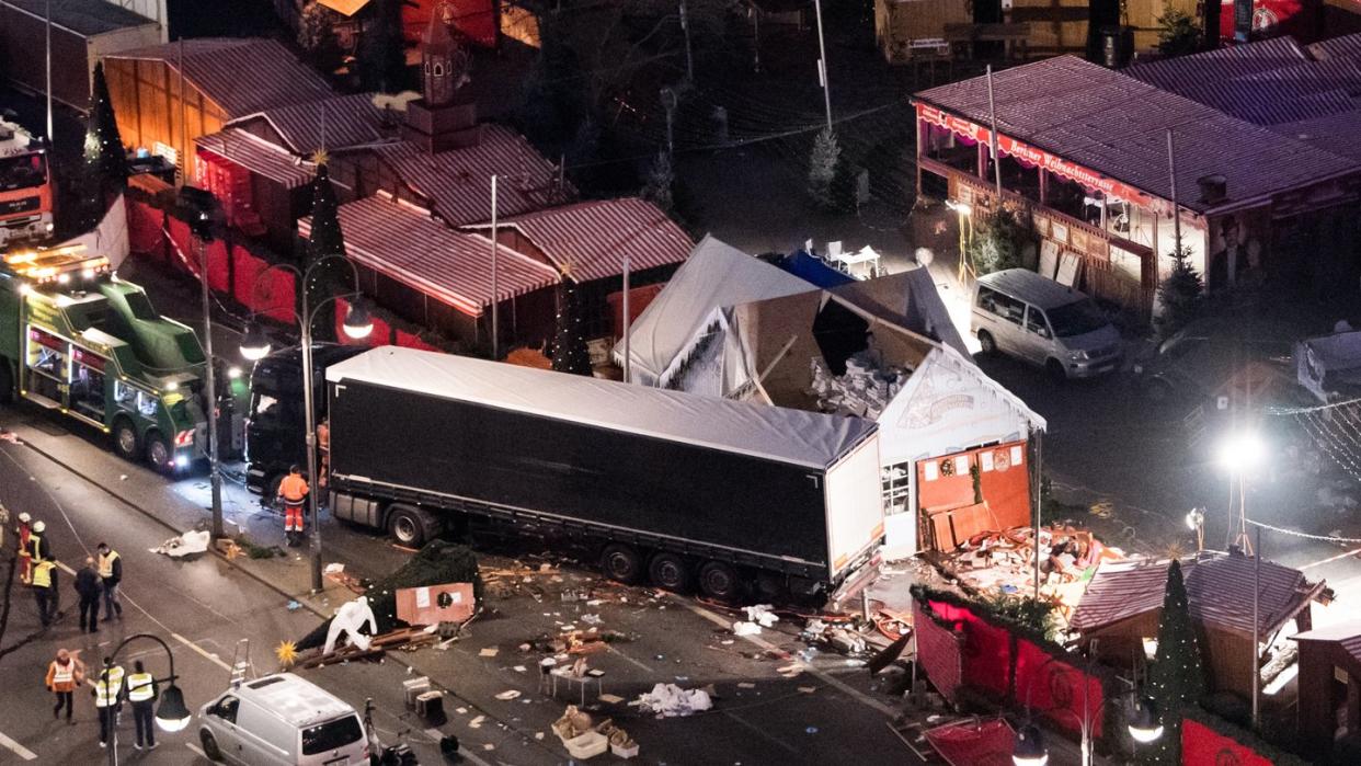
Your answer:
[[[52,197],[46,147],[0,117],[0,246],[50,235]]]

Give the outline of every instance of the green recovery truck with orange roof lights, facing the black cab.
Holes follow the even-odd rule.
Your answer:
[[[99,429],[120,456],[163,473],[207,454],[204,352],[192,328],[157,314],[142,287],[84,246],[0,259],[0,401]],[[240,442],[248,385],[223,377],[219,431]]]

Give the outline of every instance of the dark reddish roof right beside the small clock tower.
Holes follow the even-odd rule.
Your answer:
[[[397,177],[429,200],[449,226],[491,220],[491,177],[498,177],[497,214],[510,218],[566,201],[570,184],[558,186],[558,167],[524,136],[483,124],[476,144],[430,154],[414,143],[380,146],[374,152]]]

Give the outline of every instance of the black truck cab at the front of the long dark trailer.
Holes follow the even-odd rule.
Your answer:
[[[313,401],[317,422],[325,418],[325,369],[366,351],[363,347],[318,344],[312,350]],[[302,350],[284,348],[256,362],[250,371],[246,416],[246,488],[274,499],[290,465],[306,465],[306,412],[302,399]]]

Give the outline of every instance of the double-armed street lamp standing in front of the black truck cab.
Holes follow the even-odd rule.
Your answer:
[[[329,298],[321,301],[316,306],[312,306],[308,301],[308,280],[312,278],[312,271],[318,265],[327,263],[331,259],[339,259],[350,267],[350,273],[354,276],[354,293],[344,295],[331,295]],[[302,314],[293,312],[293,317],[298,321],[299,329],[302,331],[302,410],[306,419],[306,445],[308,445],[308,480],[316,483],[317,480],[317,411],[316,401],[313,401],[313,370],[312,370],[312,322],[317,317],[317,312],[323,306],[335,301],[338,298],[350,298],[350,310],[344,317],[344,333],[354,339],[367,337],[373,332],[373,320],[369,318],[369,310],[363,305],[363,295],[359,293],[359,269],[355,268],[344,256],[331,254],[317,259],[306,271],[299,269],[291,264],[274,264],[269,268],[261,271],[256,276],[256,282],[250,288],[250,294],[255,295],[256,290],[260,287],[260,279],[268,273],[271,269],[282,268],[291,271],[298,276],[302,284]],[[291,312],[291,307],[290,307]],[[269,337],[265,335],[264,328],[260,322],[252,320],[246,328],[245,337],[241,339],[241,355],[246,359],[256,362],[264,359],[269,355]],[[312,592],[318,593],[323,588],[321,584],[321,522],[317,518],[317,491],[313,487],[308,493],[308,517],[312,522]]]

